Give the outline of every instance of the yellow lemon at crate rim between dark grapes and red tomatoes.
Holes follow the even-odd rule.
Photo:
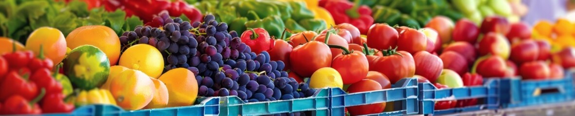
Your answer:
[[[319,89],[324,87],[339,87],[343,89],[342,75],[331,67],[322,67],[313,72],[309,87]]]

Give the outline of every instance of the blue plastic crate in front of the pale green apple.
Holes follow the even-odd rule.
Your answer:
[[[497,109],[497,107],[499,107],[499,103],[497,101],[497,97],[499,97],[499,95],[497,95],[496,84],[496,82],[488,82],[488,84],[482,86],[437,89],[437,87],[431,83],[419,83],[419,114],[441,115],[466,111]],[[473,106],[435,110],[435,102],[445,101],[448,98],[451,98],[452,100],[478,99],[478,102],[477,105]]]

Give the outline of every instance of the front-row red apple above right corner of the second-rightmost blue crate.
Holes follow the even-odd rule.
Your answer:
[[[507,75],[505,60],[497,55],[490,55],[477,60],[476,73],[486,78],[504,78]]]

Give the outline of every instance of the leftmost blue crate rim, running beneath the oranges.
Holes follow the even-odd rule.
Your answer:
[[[85,116],[99,116],[99,115],[218,115],[220,113],[220,98],[209,97],[200,98],[202,101],[198,105],[182,106],[182,107],[166,107],[161,109],[145,109],[125,111],[122,108],[114,105],[89,105],[78,107],[70,114],[43,114],[43,115],[85,115]]]

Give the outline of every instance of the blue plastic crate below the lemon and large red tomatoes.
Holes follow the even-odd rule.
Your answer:
[[[417,78],[404,78],[392,85],[392,89],[347,94],[339,88],[331,89],[331,115],[345,115],[345,107],[393,102],[393,111],[369,115],[417,114]]]

